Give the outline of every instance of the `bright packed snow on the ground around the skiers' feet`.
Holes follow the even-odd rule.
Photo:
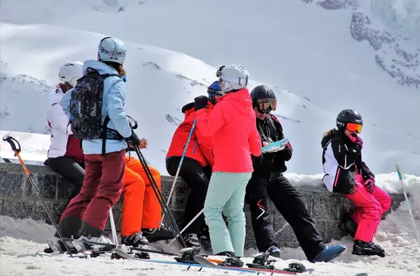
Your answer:
[[[288,174],[293,182],[304,184],[304,180],[312,177],[300,176],[300,179]],[[379,174],[377,184],[388,192],[400,192],[401,186],[396,174]],[[420,177],[407,175],[407,191],[411,195],[410,202],[414,219],[420,227]],[[130,260],[111,260],[109,256],[91,259],[68,258],[64,255],[55,257],[37,257],[36,251],[43,250],[47,245],[45,240],[51,238],[54,228],[41,221],[31,219],[12,219],[8,216],[0,217],[0,275],[1,276],[38,276],[38,275],[239,275],[238,272],[222,272],[204,269],[202,272],[186,271],[186,267],[179,265],[162,265],[155,263],[141,263]],[[345,244],[347,251],[344,255],[330,263],[309,263],[300,248],[281,249],[281,259],[276,261],[277,268],[286,268],[288,263],[299,261],[311,272],[303,275],[340,275],[353,276],[365,272],[369,276],[411,276],[420,275],[420,247],[409,218],[406,202],[388,214],[381,221],[374,242],[381,244],[386,251],[385,258],[361,257],[351,254],[353,242],[350,237],[334,240],[332,244]],[[162,247],[162,244],[158,244]],[[156,246],[156,244],[155,244]],[[172,247],[176,251],[176,247]],[[244,262],[251,262],[249,258],[255,250],[248,250]],[[172,261],[172,258],[152,254],[152,258]]]

